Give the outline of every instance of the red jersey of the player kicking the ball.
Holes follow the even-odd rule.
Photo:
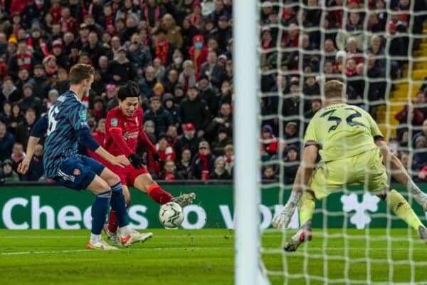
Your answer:
[[[137,108],[132,117],[123,114],[119,107],[110,110],[105,120],[105,150],[115,156],[128,157],[137,150],[137,142],[140,138],[149,151],[157,152],[156,147],[142,129],[143,118],[144,111],[141,107]]]

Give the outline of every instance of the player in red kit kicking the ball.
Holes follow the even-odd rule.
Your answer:
[[[159,160],[156,147],[149,140],[143,128],[144,111],[139,105],[139,86],[137,83],[129,81],[126,86],[121,86],[117,93],[119,105],[108,112],[105,121],[105,141],[104,147],[112,155],[126,155],[131,164],[127,167],[116,167],[108,162],[105,165],[119,175],[123,185],[123,194],[127,206],[130,204],[130,191],[128,186],[137,188],[145,192],[154,202],[166,204],[176,202],[181,207],[193,202],[196,198],[194,193],[183,194],[173,197],[169,192],[164,191],[154,182],[151,175],[143,165],[142,158],[135,154],[138,139],[142,141],[147,150],[152,153],[154,160]],[[117,235],[117,222],[115,214],[110,211],[108,227],[105,227],[112,244],[118,244],[120,239]]]

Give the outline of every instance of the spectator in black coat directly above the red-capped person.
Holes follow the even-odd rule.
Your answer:
[[[209,123],[209,108],[205,100],[199,96],[199,89],[192,86],[187,91],[187,98],[182,100],[180,117],[182,123],[191,123],[198,131],[197,135],[203,137]]]

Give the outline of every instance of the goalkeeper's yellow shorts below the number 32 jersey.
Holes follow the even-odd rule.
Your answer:
[[[371,192],[382,192],[387,185],[386,167],[379,148],[346,157],[320,162],[313,172],[310,188],[316,199],[323,199],[347,185],[363,185]]]

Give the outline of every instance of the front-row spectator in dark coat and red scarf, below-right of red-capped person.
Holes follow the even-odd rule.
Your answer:
[[[199,152],[194,155],[191,161],[191,175],[195,179],[209,180],[214,172],[216,157],[211,154],[209,142],[203,140],[199,143]]]

